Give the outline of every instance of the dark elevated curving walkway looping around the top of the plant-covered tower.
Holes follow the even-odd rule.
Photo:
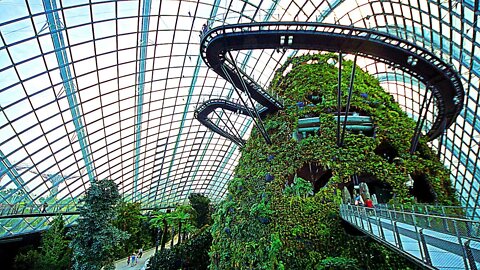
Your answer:
[[[207,66],[236,89],[246,90],[255,101],[266,107],[264,114],[282,109],[281,101],[262,89],[227,56],[235,50],[278,48],[358,54],[411,74],[423,82],[435,97],[437,115],[427,133],[430,140],[448,129],[463,107],[463,86],[450,65],[417,45],[385,33],[323,23],[267,22],[217,27],[205,33],[201,41],[201,55]],[[211,104],[210,112],[214,110],[212,106],[217,105],[220,106],[220,103]],[[203,109],[204,106],[197,109],[197,119],[212,129],[215,124],[208,120],[208,114]],[[212,130],[229,139],[236,137],[234,134],[226,136],[228,132],[220,132],[219,129],[217,126]]]

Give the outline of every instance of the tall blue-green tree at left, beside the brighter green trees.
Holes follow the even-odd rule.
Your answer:
[[[73,269],[114,269],[115,247],[128,238],[114,225],[120,200],[117,185],[100,180],[92,183],[86,194],[71,232]]]

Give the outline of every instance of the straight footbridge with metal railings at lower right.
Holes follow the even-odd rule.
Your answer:
[[[428,269],[480,267],[480,221],[346,204],[340,206],[340,215]]]

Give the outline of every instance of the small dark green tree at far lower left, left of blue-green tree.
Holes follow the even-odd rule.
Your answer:
[[[30,249],[15,257],[15,269],[69,269],[71,253],[65,236],[65,223],[61,216],[57,216],[51,221],[50,228],[43,233],[39,249]]]

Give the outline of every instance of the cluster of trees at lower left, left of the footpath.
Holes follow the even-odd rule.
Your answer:
[[[115,259],[154,245],[156,230],[149,217],[141,214],[139,203],[121,201],[113,181],[98,181],[86,194],[70,232],[56,217],[42,235],[40,247],[16,256],[16,269],[108,269]]]

